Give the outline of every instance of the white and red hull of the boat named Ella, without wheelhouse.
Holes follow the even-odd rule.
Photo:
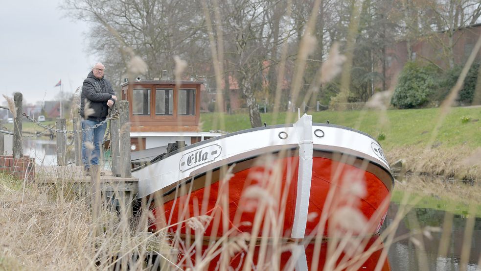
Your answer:
[[[138,197],[154,200],[153,228],[189,235],[185,221],[208,216],[209,238],[375,234],[394,185],[374,138],[309,115],[179,148],[133,176]]]

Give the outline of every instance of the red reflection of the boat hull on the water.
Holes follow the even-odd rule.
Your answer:
[[[187,245],[188,244],[184,244]],[[193,245],[195,246],[195,245]],[[252,251],[252,257],[248,257],[248,247],[231,254],[225,253],[221,256],[221,253],[216,253],[222,250],[212,250],[212,246],[202,246],[200,253],[195,249],[187,249],[187,251],[181,251],[180,257],[177,259],[176,265],[182,270],[188,268],[194,269],[202,264],[200,261],[205,261],[206,266],[201,268],[202,270],[216,271],[216,270],[243,270],[247,262],[256,267],[257,270],[307,270],[309,271],[322,271],[326,265],[327,259],[334,257],[328,253],[328,242],[322,242],[319,252],[315,252],[315,244],[310,243],[307,245],[297,245],[293,243],[281,243],[278,244],[275,249],[272,244],[267,244],[261,249],[261,246],[256,245]],[[296,248],[296,253],[293,253],[293,249]],[[373,271],[377,266],[380,266],[380,271],[390,271],[389,261],[387,257],[383,257],[382,242],[379,240],[379,236],[373,236],[367,240],[366,245],[362,246],[364,249],[359,250],[353,255],[346,255],[341,253],[331,264],[333,270],[340,268],[340,270],[359,270],[359,271]],[[376,248],[374,248],[376,247]],[[370,251],[372,249],[372,251]],[[261,250],[264,250],[262,254],[264,257],[260,259]],[[298,254],[299,253],[299,254]],[[198,255],[197,255],[198,254]],[[295,254],[295,255],[294,255]],[[213,258],[209,258],[210,255],[216,255]],[[329,255],[329,256],[327,256]],[[221,257],[227,257],[225,261],[226,266],[222,266]],[[353,260],[357,259],[357,260]],[[221,267],[222,266],[222,267]],[[206,268],[205,268],[206,267]],[[303,268],[304,267],[304,268]]]

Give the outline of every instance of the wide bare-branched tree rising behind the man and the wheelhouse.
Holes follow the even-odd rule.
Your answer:
[[[92,22],[92,52],[111,65],[119,79],[160,77],[162,70],[173,70],[173,55],[201,63],[206,43],[198,6],[196,0],[65,0],[63,8],[76,19]],[[144,74],[127,73],[134,55],[147,64]]]

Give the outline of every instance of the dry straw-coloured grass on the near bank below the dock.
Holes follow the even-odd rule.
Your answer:
[[[141,270],[154,251],[170,253],[163,235],[148,233],[140,217],[130,222],[104,205],[94,219],[91,198],[72,185],[79,169],[38,168],[33,182],[1,178],[0,270]]]

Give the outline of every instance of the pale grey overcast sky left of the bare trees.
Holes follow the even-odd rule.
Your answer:
[[[95,64],[87,53],[85,22],[65,18],[60,0],[16,0],[0,4],[0,94],[22,92],[28,103],[53,100],[62,79],[73,93]],[[5,99],[0,95],[0,104]]]

